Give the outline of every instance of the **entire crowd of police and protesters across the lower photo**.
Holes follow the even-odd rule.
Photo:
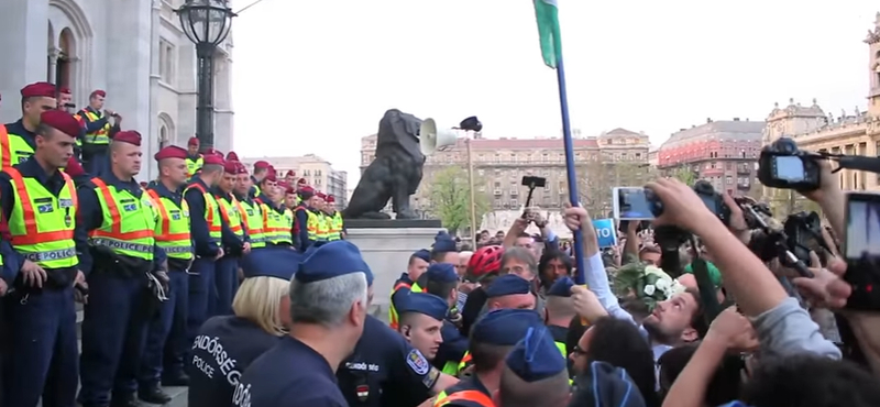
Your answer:
[[[384,322],[370,309],[387,287],[295,174],[250,174],[194,140],[139,185],[140,134],[118,129],[82,144],[96,173],[75,180],[96,119],[50,87],[25,87],[0,128],[3,406],[167,403],[160,385],[188,386],[193,407],[880,406],[880,321],[847,308],[846,194],[827,162],[804,193],[828,227],[810,276],[756,255],[733,197],[724,223],[661,178],[645,186],[663,204],[653,227],[696,238],[675,262],[636,222],[600,248],[574,204],[575,270],[527,211],[473,251],[438,233],[399,265]]]

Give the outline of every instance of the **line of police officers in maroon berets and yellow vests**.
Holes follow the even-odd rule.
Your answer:
[[[202,324],[252,295],[245,260],[345,238],[332,196],[195,138],[138,182],[141,134],[107,97],[76,111],[69,89],[30,84],[0,125],[2,406],[167,403]]]

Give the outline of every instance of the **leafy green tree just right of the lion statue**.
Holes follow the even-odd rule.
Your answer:
[[[474,185],[481,185],[474,179]],[[468,172],[461,167],[447,167],[433,174],[428,187],[428,197],[431,200],[431,212],[440,218],[443,227],[455,234],[471,226],[471,189],[468,185]],[[476,207],[476,221],[483,219],[488,210],[488,199],[485,194],[474,194]],[[477,223],[476,228],[480,227]]]

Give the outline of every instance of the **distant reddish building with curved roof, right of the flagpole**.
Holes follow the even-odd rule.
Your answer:
[[[673,133],[657,152],[657,168],[664,174],[691,170],[719,193],[746,195],[757,182],[763,121],[712,120]]]

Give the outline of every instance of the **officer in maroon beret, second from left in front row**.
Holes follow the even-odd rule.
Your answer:
[[[134,179],[141,154],[140,133],[118,133],[110,144],[110,170],[78,189],[75,238],[89,284],[79,373],[82,407],[138,404],[136,369],[155,309],[151,279],[167,288],[153,202]]]

